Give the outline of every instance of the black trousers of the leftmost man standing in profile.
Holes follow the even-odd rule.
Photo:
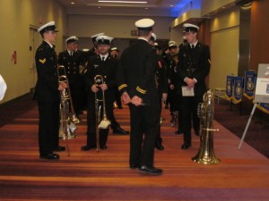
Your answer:
[[[48,155],[59,146],[59,104],[38,101],[40,155]]]

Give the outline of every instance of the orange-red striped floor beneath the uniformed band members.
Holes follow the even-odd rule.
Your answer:
[[[127,108],[115,113],[129,130]],[[181,150],[182,135],[169,126],[168,110],[162,116],[165,150],[156,150],[155,166],[163,174],[149,176],[129,170],[129,136],[110,134],[107,150],[82,152],[85,115],[78,137],[69,143],[70,157],[60,153],[59,161],[39,159],[38,112],[33,107],[0,128],[0,200],[269,200],[265,156],[246,143],[238,150],[239,138],[215,121],[220,131],[214,134],[214,150],[221,163],[194,163],[199,138],[193,136],[193,147]]]

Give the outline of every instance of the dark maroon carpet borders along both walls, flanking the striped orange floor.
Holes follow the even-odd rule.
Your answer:
[[[20,105],[20,110],[14,110],[14,108],[18,108],[18,105]],[[32,94],[21,96],[9,103],[0,105],[0,127],[36,105],[37,102],[32,100]],[[262,112],[256,109],[256,113]],[[249,114],[240,115],[239,105],[233,105],[231,109],[229,102],[226,100],[221,100],[220,105],[215,104],[214,107],[214,119],[239,138],[242,137],[247,126]],[[247,130],[245,142],[269,158],[269,125],[254,117]]]

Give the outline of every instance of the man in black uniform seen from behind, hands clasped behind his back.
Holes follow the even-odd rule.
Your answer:
[[[158,60],[156,50],[148,43],[154,21],[135,22],[138,40],[121,54],[117,71],[117,86],[131,115],[130,158],[131,169],[161,174],[153,166],[154,143],[160,125],[160,102],[155,80]],[[143,138],[144,133],[144,138]]]

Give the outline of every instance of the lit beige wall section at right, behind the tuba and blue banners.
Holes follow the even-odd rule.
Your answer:
[[[239,9],[233,9],[212,19],[209,88],[225,88],[226,76],[237,75],[238,56]]]

